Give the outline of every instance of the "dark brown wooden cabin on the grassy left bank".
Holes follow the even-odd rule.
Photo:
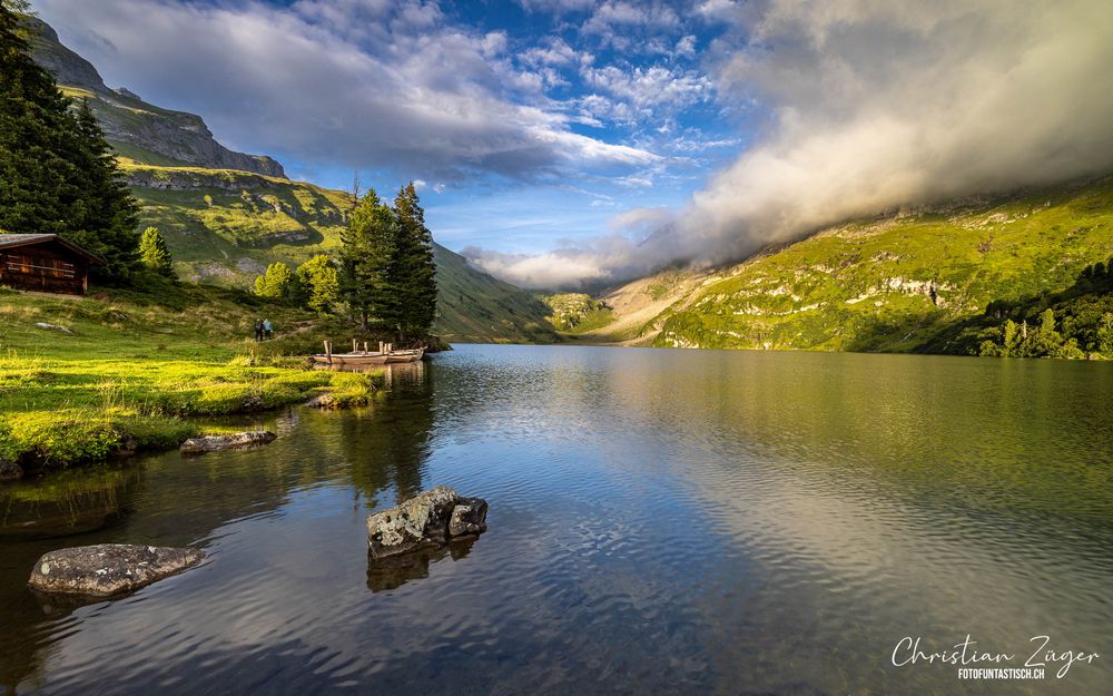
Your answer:
[[[96,254],[55,234],[0,233],[0,285],[42,293],[83,295]]]

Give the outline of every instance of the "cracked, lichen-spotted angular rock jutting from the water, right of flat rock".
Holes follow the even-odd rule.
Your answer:
[[[437,486],[396,508],[368,516],[367,545],[374,558],[435,548],[486,531],[486,501],[461,498],[451,488]]]

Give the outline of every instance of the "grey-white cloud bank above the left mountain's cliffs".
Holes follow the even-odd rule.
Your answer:
[[[541,60],[523,65],[505,31],[453,22],[434,1],[36,0],[35,8],[109,80],[118,76],[148,98],[154,91],[155,100],[168,92],[234,147],[440,182],[530,180],[662,159],[574,131],[574,109],[544,94],[561,79],[555,71]]]

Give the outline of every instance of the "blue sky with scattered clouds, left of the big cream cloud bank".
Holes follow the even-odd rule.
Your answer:
[[[36,7],[110,86],[200,114],[229,147],[274,155],[292,177],[336,188],[349,187],[354,169],[381,192],[416,179],[441,243],[532,254],[613,233],[626,212],[681,206],[737,155],[743,115],[718,98],[708,50],[728,28],[715,7],[729,4]],[[140,14],[152,31],[130,29]],[[279,58],[274,69],[284,73],[270,73],[268,53],[294,41],[303,42],[297,58]],[[336,81],[322,86],[331,72]],[[374,72],[386,75],[352,81]],[[362,90],[385,94],[351,94]],[[317,104],[297,104],[302,92]],[[451,116],[410,108],[423,97]],[[335,111],[317,108],[329,101]],[[370,101],[374,108],[361,108]]]

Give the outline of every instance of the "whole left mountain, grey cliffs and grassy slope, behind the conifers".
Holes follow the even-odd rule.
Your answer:
[[[36,60],[57,76],[65,94],[90,99],[142,206],[140,226],[162,232],[181,277],[249,287],[267,264],[296,265],[338,248],[349,194],[289,180],[274,159],[221,146],[199,116],[109,89],[52,28],[35,18],[28,22],[37,37]],[[450,342],[556,340],[548,307],[533,294],[440,245],[434,257],[441,291],[434,333]]]

